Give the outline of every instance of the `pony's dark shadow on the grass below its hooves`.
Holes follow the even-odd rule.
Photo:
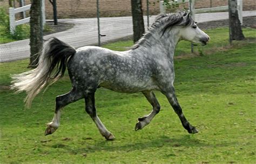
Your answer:
[[[161,147],[227,147],[233,145],[234,142],[228,142],[225,144],[215,143],[209,144],[206,141],[202,141],[196,138],[191,137],[190,135],[185,135],[182,138],[169,138],[167,136],[161,136],[150,141],[139,141],[133,142],[132,144],[126,145],[114,145],[109,144],[109,142],[115,141],[99,141],[93,145],[81,145],[80,148],[74,149],[68,145],[62,145],[58,148],[63,148],[70,154],[81,154],[81,153],[94,153],[99,151],[122,151],[122,152],[131,152],[131,151],[142,151],[149,148],[161,148]],[[55,148],[55,147],[53,147]]]

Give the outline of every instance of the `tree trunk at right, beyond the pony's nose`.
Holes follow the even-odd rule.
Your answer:
[[[241,23],[238,17],[237,0],[228,0],[228,15],[230,24],[230,43],[232,40],[244,40]]]

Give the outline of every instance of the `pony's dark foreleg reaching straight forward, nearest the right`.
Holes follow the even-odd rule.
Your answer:
[[[188,133],[198,133],[198,130],[196,129],[196,127],[192,126],[188,120],[186,119],[186,117],[184,116],[182,109],[178,103],[178,99],[175,95],[174,92],[174,88],[172,88],[170,91],[168,92],[163,92],[164,95],[167,97],[169,103],[172,105],[173,110],[176,112],[176,114],[179,116],[179,119],[183,125],[183,127],[188,131]]]

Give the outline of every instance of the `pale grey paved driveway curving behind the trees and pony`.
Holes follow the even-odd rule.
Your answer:
[[[256,11],[244,11],[243,17],[255,16]],[[156,16],[150,17],[153,23]],[[196,15],[196,22],[210,22],[212,20],[228,19],[227,12],[200,13]],[[144,17],[146,25],[146,17]],[[73,23],[69,30],[44,36],[44,39],[57,37],[75,48],[96,45],[98,43],[97,18],[59,19],[59,22]],[[145,28],[146,29],[146,28]],[[132,17],[100,18],[100,33],[102,42],[127,37],[133,34]],[[0,62],[26,59],[30,56],[29,39],[0,45]]]

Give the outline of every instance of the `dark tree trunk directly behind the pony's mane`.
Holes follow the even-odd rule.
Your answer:
[[[133,42],[136,42],[142,37],[145,32],[142,0],[131,0],[132,5],[132,24],[133,24]]]

